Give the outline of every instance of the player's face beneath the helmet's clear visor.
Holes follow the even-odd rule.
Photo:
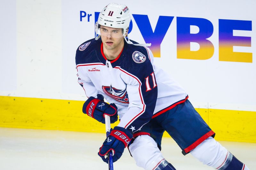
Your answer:
[[[100,36],[106,49],[113,50],[118,47],[123,48],[124,36],[122,28],[100,26]]]

